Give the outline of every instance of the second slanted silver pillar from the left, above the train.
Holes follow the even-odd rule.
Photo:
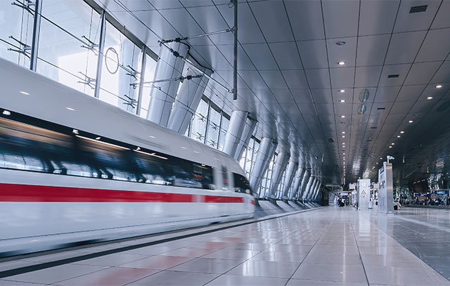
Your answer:
[[[210,70],[205,69],[205,73],[211,73]],[[193,76],[198,74],[192,68],[188,69],[186,76]],[[195,115],[195,110],[202,99],[208,84],[207,77],[194,77],[193,79],[185,79],[181,85],[181,89],[176,97],[174,109],[170,113],[168,129],[172,129],[179,134],[185,134],[188,129],[192,117]]]

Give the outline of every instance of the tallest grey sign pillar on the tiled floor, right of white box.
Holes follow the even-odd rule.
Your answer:
[[[378,170],[378,212],[392,214],[394,212],[394,188],[392,184],[392,164],[383,162]]]

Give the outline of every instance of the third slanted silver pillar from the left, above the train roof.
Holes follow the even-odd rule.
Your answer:
[[[231,113],[230,124],[228,130],[226,131],[224,152],[234,157],[236,151],[238,150],[238,144],[243,136],[243,131],[245,129],[245,122],[247,120],[248,111],[234,110]]]

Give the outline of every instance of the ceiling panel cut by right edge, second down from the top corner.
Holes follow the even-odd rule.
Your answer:
[[[443,39],[450,39],[450,28],[430,30],[420,47],[416,61],[430,62],[433,60],[445,60],[449,55],[450,41],[443,41]]]

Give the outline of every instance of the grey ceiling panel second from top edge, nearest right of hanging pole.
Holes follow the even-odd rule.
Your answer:
[[[298,55],[295,42],[271,43],[269,47],[274,53],[276,63],[281,70],[300,70],[302,62]]]

